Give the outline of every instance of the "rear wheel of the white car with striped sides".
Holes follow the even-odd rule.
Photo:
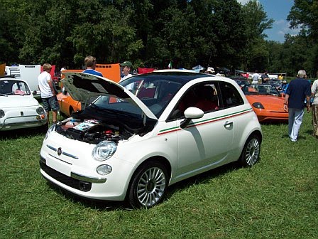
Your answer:
[[[261,139],[256,134],[252,134],[246,140],[239,162],[242,166],[253,166],[256,164],[261,153]]]

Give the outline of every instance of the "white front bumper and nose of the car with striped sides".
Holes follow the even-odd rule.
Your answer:
[[[75,144],[76,143],[76,144]],[[76,145],[76,147],[75,147]],[[61,148],[59,155],[57,149]],[[123,201],[134,165],[121,159],[92,159],[94,145],[67,139],[52,132],[40,152],[40,173],[51,183],[89,199]],[[56,150],[55,150],[56,149]],[[97,167],[109,164],[110,174],[97,174]]]

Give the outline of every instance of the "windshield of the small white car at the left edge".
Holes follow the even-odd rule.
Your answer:
[[[21,80],[1,80],[1,95],[31,95],[28,85]]]

